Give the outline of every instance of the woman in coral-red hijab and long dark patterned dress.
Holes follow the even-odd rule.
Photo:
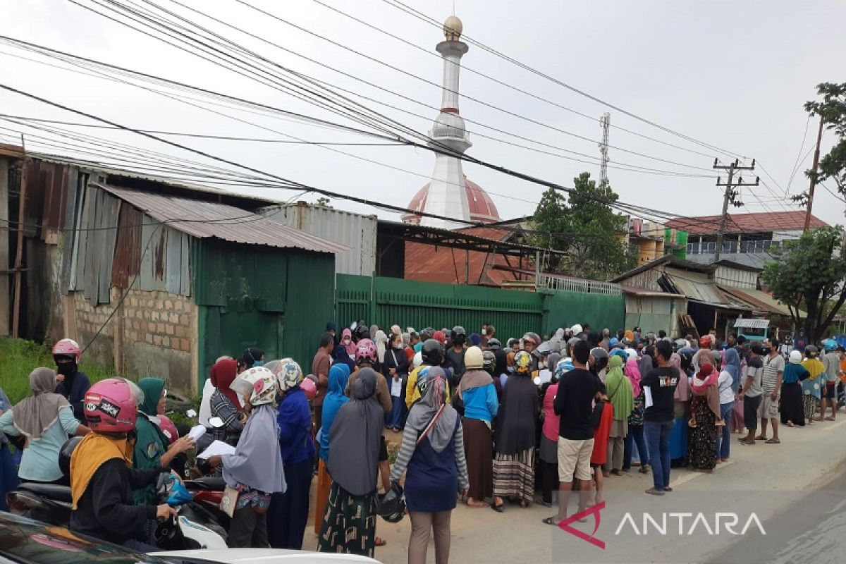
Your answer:
[[[690,401],[691,423],[688,460],[692,470],[714,471],[717,460],[717,425],[720,419],[720,392],[717,388],[719,373],[710,363],[700,364],[699,372],[690,384],[693,397]],[[715,423],[716,422],[716,423]]]

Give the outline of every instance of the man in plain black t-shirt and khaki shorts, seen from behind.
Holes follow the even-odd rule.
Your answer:
[[[602,382],[587,370],[591,348],[579,340],[573,346],[574,369],[558,381],[553,408],[560,416],[558,424],[558,515],[543,520],[556,525],[567,518],[567,504],[573,480],[579,480],[579,511],[585,509],[591,487],[591,453],[593,452],[593,398]]]

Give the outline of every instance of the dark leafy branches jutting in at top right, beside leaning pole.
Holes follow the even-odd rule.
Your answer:
[[[805,102],[805,112],[811,116],[820,116],[826,129],[832,130],[838,141],[820,159],[816,173],[809,170],[805,176],[811,179],[816,177],[817,183],[831,179],[837,184],[838,192],[846,196],[846,82],[839,85],[824,82],[817,85],[816,93],[822,96],[822,101]],[[794,200],[807,205],[808,194],[798,194]]]

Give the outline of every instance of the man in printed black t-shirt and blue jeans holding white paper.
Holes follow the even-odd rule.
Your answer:
[[[663,496],[673,491],[670,485],[670,431],[673,430],[673,395],[679,378],[687,378],[670,365],[673,344],[658,341],[655,344],[655,359],[658,367],[650,370],[640,381],[646,396],[643,413],[643,430],[649,450],[649,465],[652,468],[652,484],[647,494]],[[651,401],[650,401],[651,400]]]

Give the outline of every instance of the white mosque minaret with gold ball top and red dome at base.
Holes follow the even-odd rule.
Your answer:
[[[446,41],[441,41],[436,47],[443,57],[443,94],[441,112],[429,132],[432,140],[429,145],[441,149],[441,145],[446,145],[463,154],[472,143],[464,127],[464,119],[459,116],[461,57],[468,50],[467,44],[459,41],[462,29],[461,20],[454,15],[449,16],[443,23]],[[461,161],[454,156],[442,154],[435,157],[435,170],[431,173],[431,181],[415,194],[408,207],[414,211],[425,211],[465,221],[500,221],[497,207],[493,205],[485,190],[464,177]],[[445,229],[468,227],[461,222],[412,214],[403,216],[403,221]]]

